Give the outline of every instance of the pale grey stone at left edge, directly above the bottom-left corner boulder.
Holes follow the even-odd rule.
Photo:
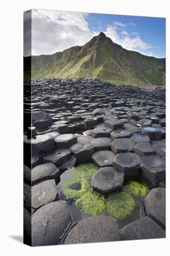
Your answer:
[[[57,196],[55,180],[39,182],[31,187],[31,207],[37,209],[52,202]]]

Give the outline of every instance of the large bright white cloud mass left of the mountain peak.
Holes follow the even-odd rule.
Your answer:
[[[88,13],[33,10],[32,55],[84,45],[98,34],[89,30],[87,17]]]

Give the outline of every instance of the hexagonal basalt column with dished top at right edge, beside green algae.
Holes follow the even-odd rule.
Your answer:
[[[144,156],[140,168],[141,178],[152,187],[158,187],[165,179],[165,161],[157,155]]]

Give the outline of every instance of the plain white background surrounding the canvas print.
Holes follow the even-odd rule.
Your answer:
[[[1,255],[167,255],[169,239],[170,158],[167,151],[167,238],[157,240],[28,247],[22,244],[22,93],[23,93],[23,12],[52,9],[166,17],[167,28],[167,130],[170,101],[170,13],[168,0],[24,0],[1,1],[0,12],[0,251]],[[169,32],[169,33],[168,33]],[[167,148],[169,149],[167,132]]]

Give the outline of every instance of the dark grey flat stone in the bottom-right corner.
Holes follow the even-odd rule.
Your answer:
[[[165,230],[146,216],[120,229],[121,240],[164,238]]]

